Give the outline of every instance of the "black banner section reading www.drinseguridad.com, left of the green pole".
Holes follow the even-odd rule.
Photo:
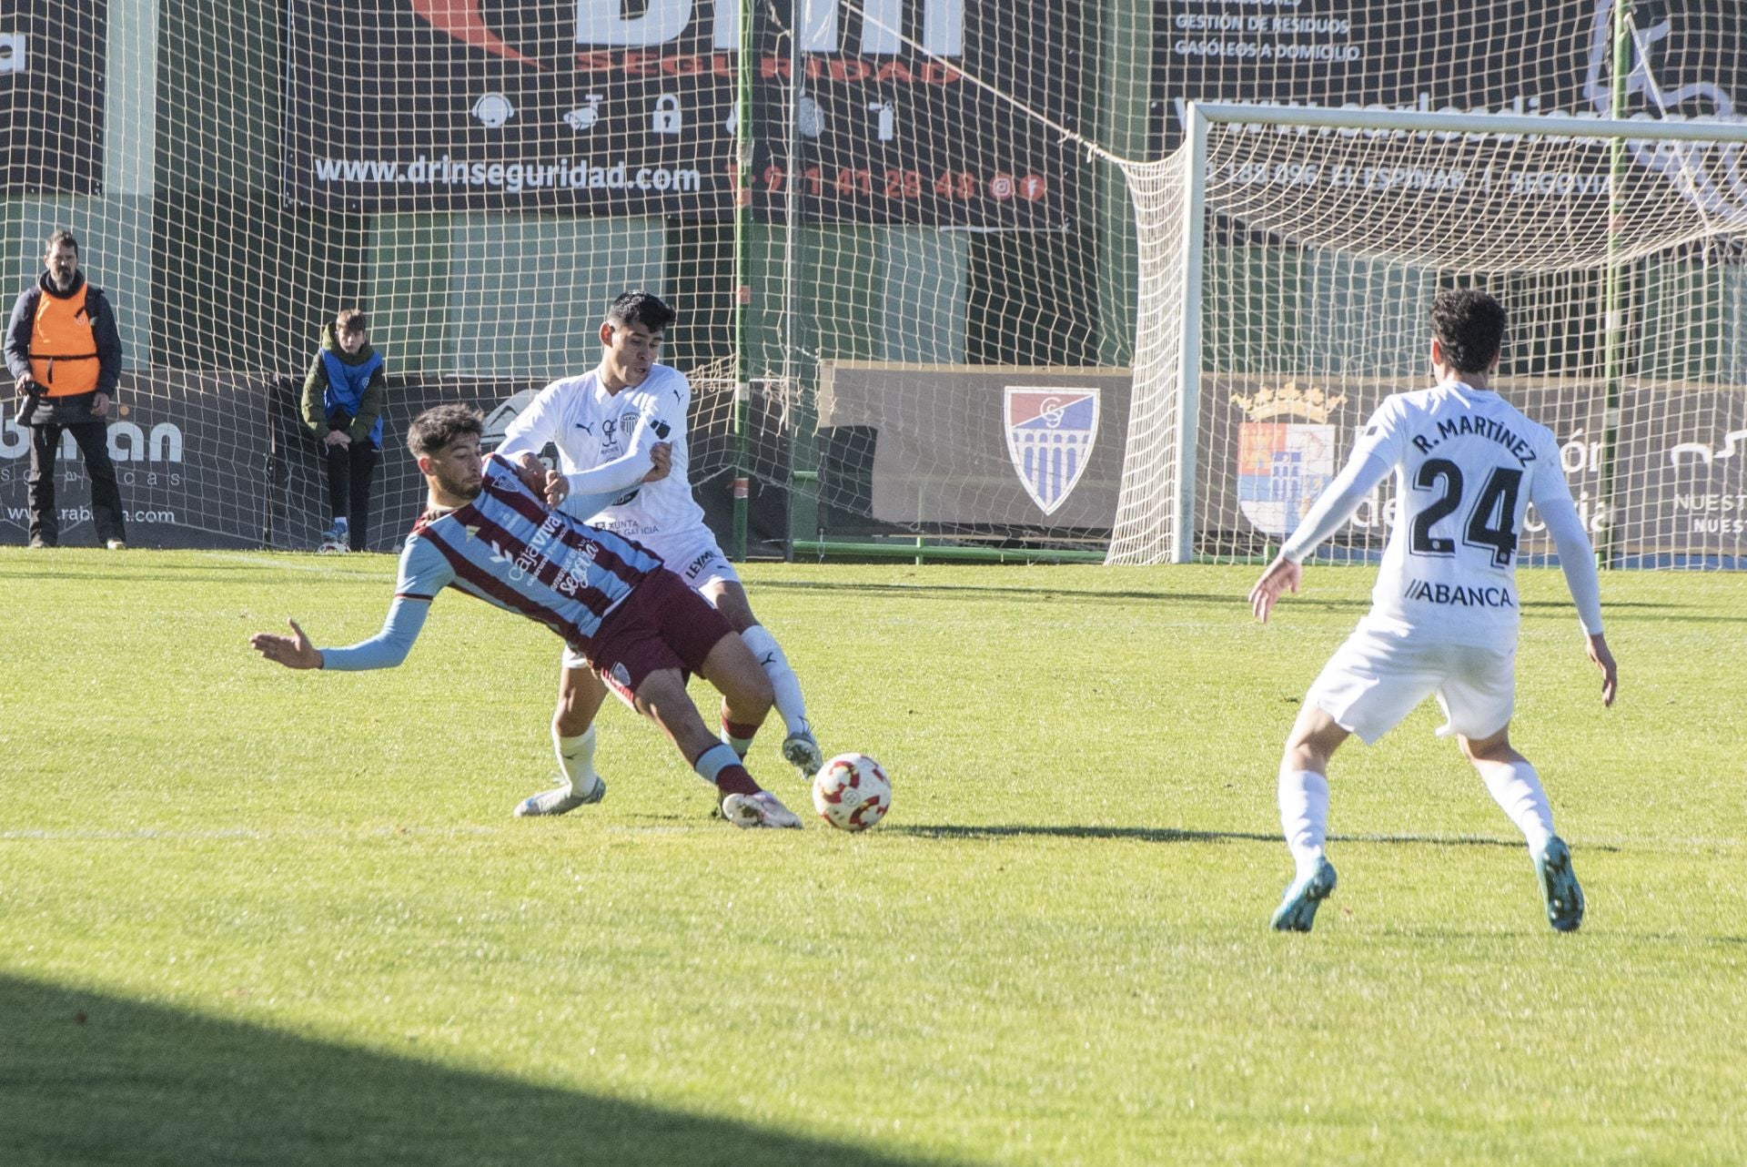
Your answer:
[[[735,30],[713,10],[292,0],[287,192],[384,211],[723,215],[734,54],[716,42]]]

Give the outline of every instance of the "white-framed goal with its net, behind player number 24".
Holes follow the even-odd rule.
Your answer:
[[[1261,559],[1384,395],[1427,307],[1485,287],[1499,388],[1553,428],[1616,566],[1747,564],[1747,124],[1190,103],[1127,164],[1141,246],[1109,563]],[[1319,556],[1370,559],[1387,484]],[[1525,554],[1551,549],[1530,522]]]

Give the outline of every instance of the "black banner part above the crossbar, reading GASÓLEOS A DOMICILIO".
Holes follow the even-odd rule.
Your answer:
[[[1747,112],[1738,0],[1635,0],[1626,115]],[[1441,114],[1612,108],[1612,0],[1160,0],[1153,148],[1188,101]]]

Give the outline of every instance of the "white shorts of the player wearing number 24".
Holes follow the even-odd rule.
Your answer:
[[[1509,725],[1516,708],[1516,653],[1419,645],[1359,629],[1322,666],[1305,704],[1370,746],[1427,694],[1436,694],[1443,709],[1440,737],[1490,737]]]

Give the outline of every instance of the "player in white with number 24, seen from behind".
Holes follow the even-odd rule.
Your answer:
[[[1541,779],[1511,748],[1516,657],[1516,540],[1529,503],[1558,550],[1588,657],[1602,671],[1602,704],[1618,671],[1602,638],[1593,550],[1558,461],[1553,433],[1488,388],[1504,342],[1504,307],[1483,292],[1440,292],[1431,309],[1436,384],[1394,393],[1359,432],[1352,458],[1249,592],[1267,622],[1296,592],[1300,563],[1394,472],[1396,517],[1371,610],[1310,685],[1281,758],[1279,802],[1296,877],[1274,928],[1310,931],[1335,891],[1324,854],[1328,760],[1349,734],[1366,744],[1438,695],[1462,755],[1523,833],[1548,922],[1574,931],[1583,891],[1571,849],[1553,833]]]

